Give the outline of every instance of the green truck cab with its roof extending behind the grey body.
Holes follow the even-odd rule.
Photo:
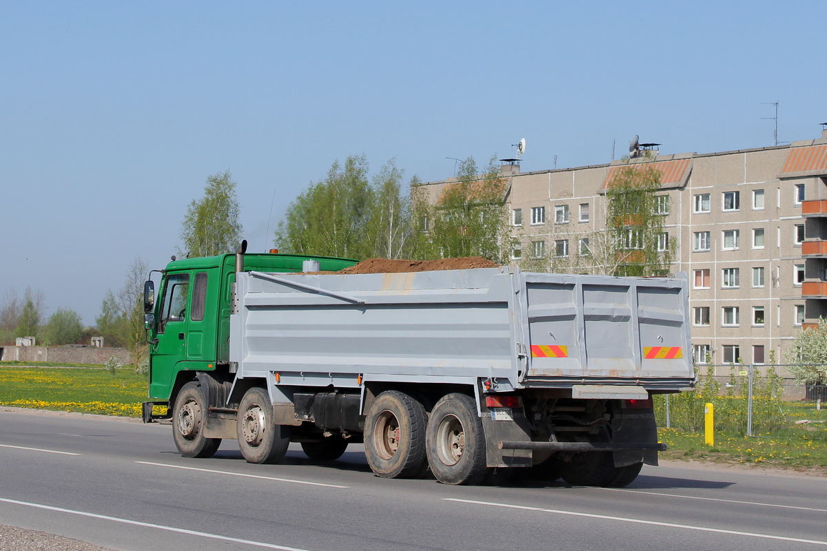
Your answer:
[[[241,245],[246,249],[246,242]],[[243,270],[268,273],[303,271],[306,260],[315,260],[321,271],[337,271],[356,264],[337,259],[301,254],[244,254]],[[236,254],[175,259],[161,270],[155,300],[155,284],[144,287],[146,339],[149,342],[149,400],[144,403],[144,420],[168,418],[153,415],[153,405],[172,410],[178,390],[201,372],[229,374],[230,311],[236,281]],[[218,373],[216,373],[218,374]]]

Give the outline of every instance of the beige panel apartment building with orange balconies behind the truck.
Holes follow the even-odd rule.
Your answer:
[[[690,279],[696,363],[783,361],[797,331],[827,316],[827,130],[753,150],[650,153],[629,165],[661,173],[658,247]],[[622,164],[528,173],[505,164],[514,262],[585,265],[574,260],[605,231],[605,187]],[[451,182],[420,191],[436,202]]]

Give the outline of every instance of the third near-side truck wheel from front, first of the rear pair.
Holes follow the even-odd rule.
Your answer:
[[[428,468],[424,406],[404,392],[382,392],[365,420],[365,455],[373,472],[383,478],[413,478]]]

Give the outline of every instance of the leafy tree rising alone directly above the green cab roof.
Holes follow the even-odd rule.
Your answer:
[[[204,196],[189,203],[181,225],[182,253],[190,258],[235,251],[241,242],[241,208],[230,171],[207,178]]]

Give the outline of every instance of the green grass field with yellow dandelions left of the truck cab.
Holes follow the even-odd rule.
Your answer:
[[[0,365],[0,405],[110,416],[141,416],[146,377],[131,366],[115,377],[94,368],[21,368]]]

